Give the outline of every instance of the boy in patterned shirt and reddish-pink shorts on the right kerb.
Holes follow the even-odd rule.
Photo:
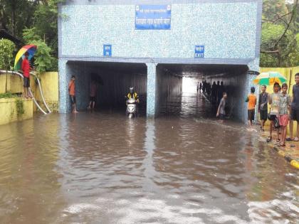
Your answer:
[[[280,102],[278,105],[278,119],[281,127],[281,139],[279,146],[285,146],[285,137],[287,132],[287,126],[289,121],[289,110],[290,110],[290,96],[287,93],[288,85],[283,83],[283,92],[280,93]]]

